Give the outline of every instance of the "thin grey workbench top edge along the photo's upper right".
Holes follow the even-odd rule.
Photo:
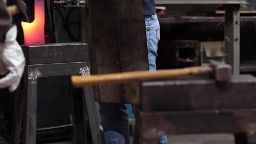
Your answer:
[[[246,4],[246,0],[156,0],[156,4]]]

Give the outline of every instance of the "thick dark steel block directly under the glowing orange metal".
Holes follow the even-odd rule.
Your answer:
[[[22,45],[26,64],[50,64],[88,62],[88,45],[84,43],[60,43]]]

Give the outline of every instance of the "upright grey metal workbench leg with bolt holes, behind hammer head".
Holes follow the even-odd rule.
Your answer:
[[[225,5],[226,63],[231,64],[233,74],[240,74],[240,5]]]

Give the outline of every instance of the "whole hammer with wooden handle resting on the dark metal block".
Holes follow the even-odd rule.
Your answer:
[[[91,75],[88,77],[71,76],[73,87],[97,85],[100,83],[123,83],[147,80],[170,79],[184,76],[212,75],[218,82],[231,79],[232,68],[224,62],[210,61],[210,67],[189,67],[183,69],[169,69],[157,71],[131,71],[125,73]]]

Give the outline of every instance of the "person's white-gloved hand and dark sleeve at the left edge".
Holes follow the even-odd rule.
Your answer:
[[[25,57],[16,41],[17,27],[11,24],[5,3],[0,3],[0,88],[9,87],[9,91],[13,92],[19,86],[25,67]]]

